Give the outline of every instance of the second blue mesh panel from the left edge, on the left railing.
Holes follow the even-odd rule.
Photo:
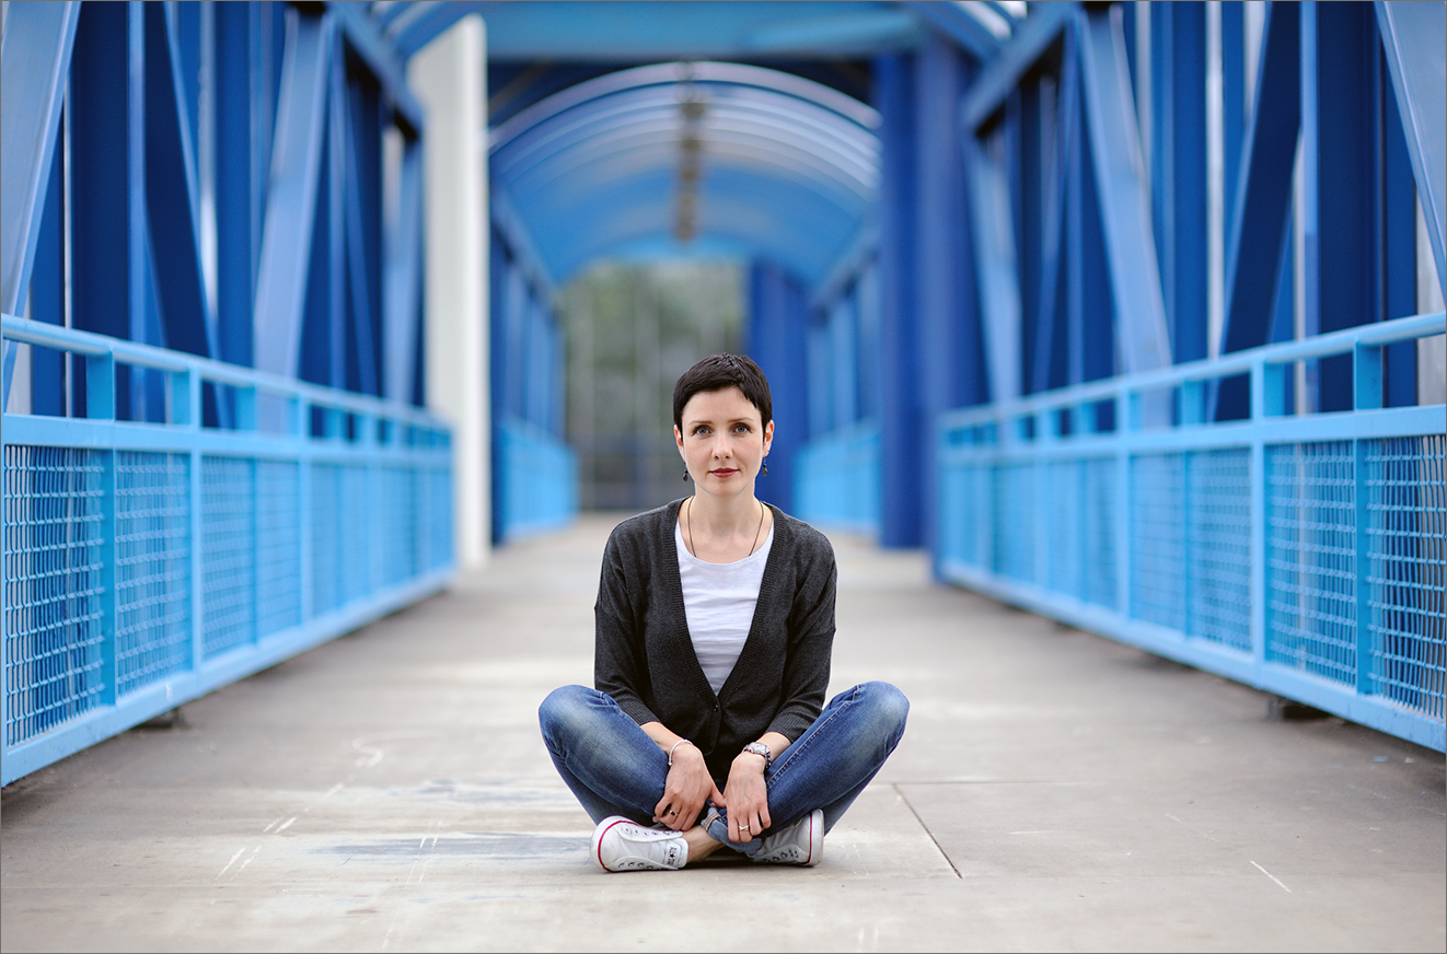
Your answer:
[[[116,451],[116,694],[191,665],[191,455]]]

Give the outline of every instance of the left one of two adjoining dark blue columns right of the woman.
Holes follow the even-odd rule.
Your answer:
[[[909,56],[874,61],[880,110],[880,543],[919,546],[922,429],[916,382],[915,117]]]

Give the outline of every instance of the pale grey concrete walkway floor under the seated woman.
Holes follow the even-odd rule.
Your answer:
[[[910,697],[816,869],[605,874],[537,733],[609,523],[4,789],[20,950],[1444,950],[1443,756],[838,539],[833,688]]]

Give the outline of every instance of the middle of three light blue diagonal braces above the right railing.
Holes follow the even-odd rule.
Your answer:
[[[1123,370],[1171,364],[1150,198],[1119,7],[1077,14],[1081,80]]]

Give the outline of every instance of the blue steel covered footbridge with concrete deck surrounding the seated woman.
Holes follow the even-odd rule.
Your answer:
[[[4,4],[4,945],[752,901],[574,864],[534,729],[608,529],[563,289],[702,260],[760,494],[855,535],[836,682],[915,701],[719,940],[1440,950],[1447,7],[658,9]]]

